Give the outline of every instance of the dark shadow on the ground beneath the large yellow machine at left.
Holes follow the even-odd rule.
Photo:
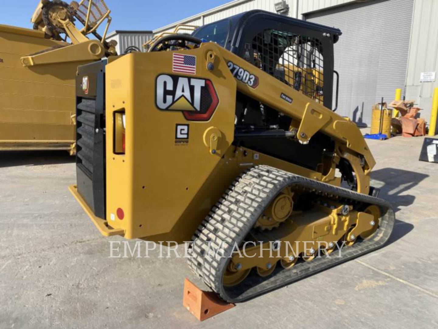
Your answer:
[[[46,164],[74,163],[67,151],[14,151],[0,152],[0,168],[15,166],[41,166]]]

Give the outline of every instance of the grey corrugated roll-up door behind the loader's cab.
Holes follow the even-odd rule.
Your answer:
[[[372,105],[405,86],[412,7],[413,0],[371,0],[306,15],[343,33],[335,44],[337,112],[358,125],[369,125]]]

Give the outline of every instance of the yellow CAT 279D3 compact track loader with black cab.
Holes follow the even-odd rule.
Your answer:
[[[382,247],[374,158],[331,109],[340,35],[249,11],[81,66],[71,192],[105,236],[193,241],[230,302]]]

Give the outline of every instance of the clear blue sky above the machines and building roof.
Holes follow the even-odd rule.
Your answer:
[[[230,0],[105,0],[113,18],[109,32],[158,29],[227,2]],[[0,24],[32,29],[30,18],[38,3],[38,0],[0,0]]]

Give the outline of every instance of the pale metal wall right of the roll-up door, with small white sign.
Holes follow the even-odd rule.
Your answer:
[[[438,87],[438,1],[416,0],[413,10],[406,99],[413,99],[431,117],[433,89]],[[435,82],[420,82],[421,72],[436,72]]]

